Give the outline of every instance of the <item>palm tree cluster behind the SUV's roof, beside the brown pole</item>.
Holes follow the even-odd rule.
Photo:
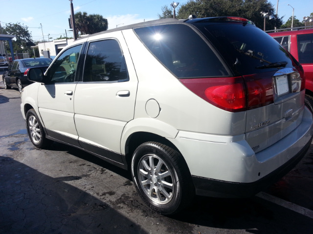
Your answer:
[[[108,20],[101,15],[88,15],[87,12],[77,12],[75,14],[75,24],[77,34],[93,34],[108,29]]]

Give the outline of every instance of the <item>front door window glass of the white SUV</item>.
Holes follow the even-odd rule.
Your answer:
[[[82,45],[71,47],[54,61],[48,72],[48,83],[74,81],[81,48]]]

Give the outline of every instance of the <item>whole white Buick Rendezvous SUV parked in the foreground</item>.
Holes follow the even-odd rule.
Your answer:
[[[132,173],[177,213],[195,194],[246,197],[311,145],[300,64],[251,21],[163,19],[75,40],[23,89],[38,148],[66,143]]]

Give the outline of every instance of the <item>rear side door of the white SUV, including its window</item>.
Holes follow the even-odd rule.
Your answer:
[[[100,155],[102,149],[121,152],[123,128],[134,118],[138,83],[122,33],[109,36],[90,39],[83,81],[77,84],[74,98],[79,142]],[[121,162],[118,155],[110,159]]]

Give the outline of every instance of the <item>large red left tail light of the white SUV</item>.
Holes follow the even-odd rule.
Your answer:
[[[240,112],[273,103],[272,76],[257,74],[231,78],[180,79],[193,93],[229,112]]]

